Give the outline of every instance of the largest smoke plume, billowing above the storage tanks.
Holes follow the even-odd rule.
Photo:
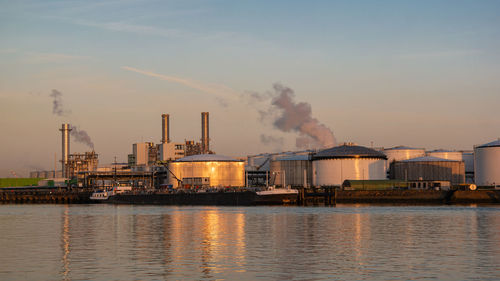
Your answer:
[[[309,103],[295,102],[293,90],[281,84],[274,84],[273,88],[274,93],[271,95],[255,93],[250,95],[253,101],[262,101],[268,96],[271,97],[268,110],[259,111],[261,120],[271,119],[274,128],[282,132],[299,134],[295,143],[299,148],[326,148],[335,145],[332,130],[312,117]]]

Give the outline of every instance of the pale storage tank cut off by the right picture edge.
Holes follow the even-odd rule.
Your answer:
[[[500,139],[474,147],[477,186],[500,186]]]

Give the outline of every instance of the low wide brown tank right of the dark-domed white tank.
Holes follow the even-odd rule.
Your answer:
[[[452,185],[465,183],[463,161],[417,157],[391,163],[391,179],[405,181],[449,181]]]

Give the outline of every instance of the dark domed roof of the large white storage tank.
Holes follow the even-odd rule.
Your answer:
[[[359,145],[344,144],[335,146],[313,155],[313,160],[336,158],[379,158],[387,159],[384,153]]]

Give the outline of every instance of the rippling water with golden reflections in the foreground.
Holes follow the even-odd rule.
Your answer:
[[[500,207],[0,205],[0,280],[499,280]]]

